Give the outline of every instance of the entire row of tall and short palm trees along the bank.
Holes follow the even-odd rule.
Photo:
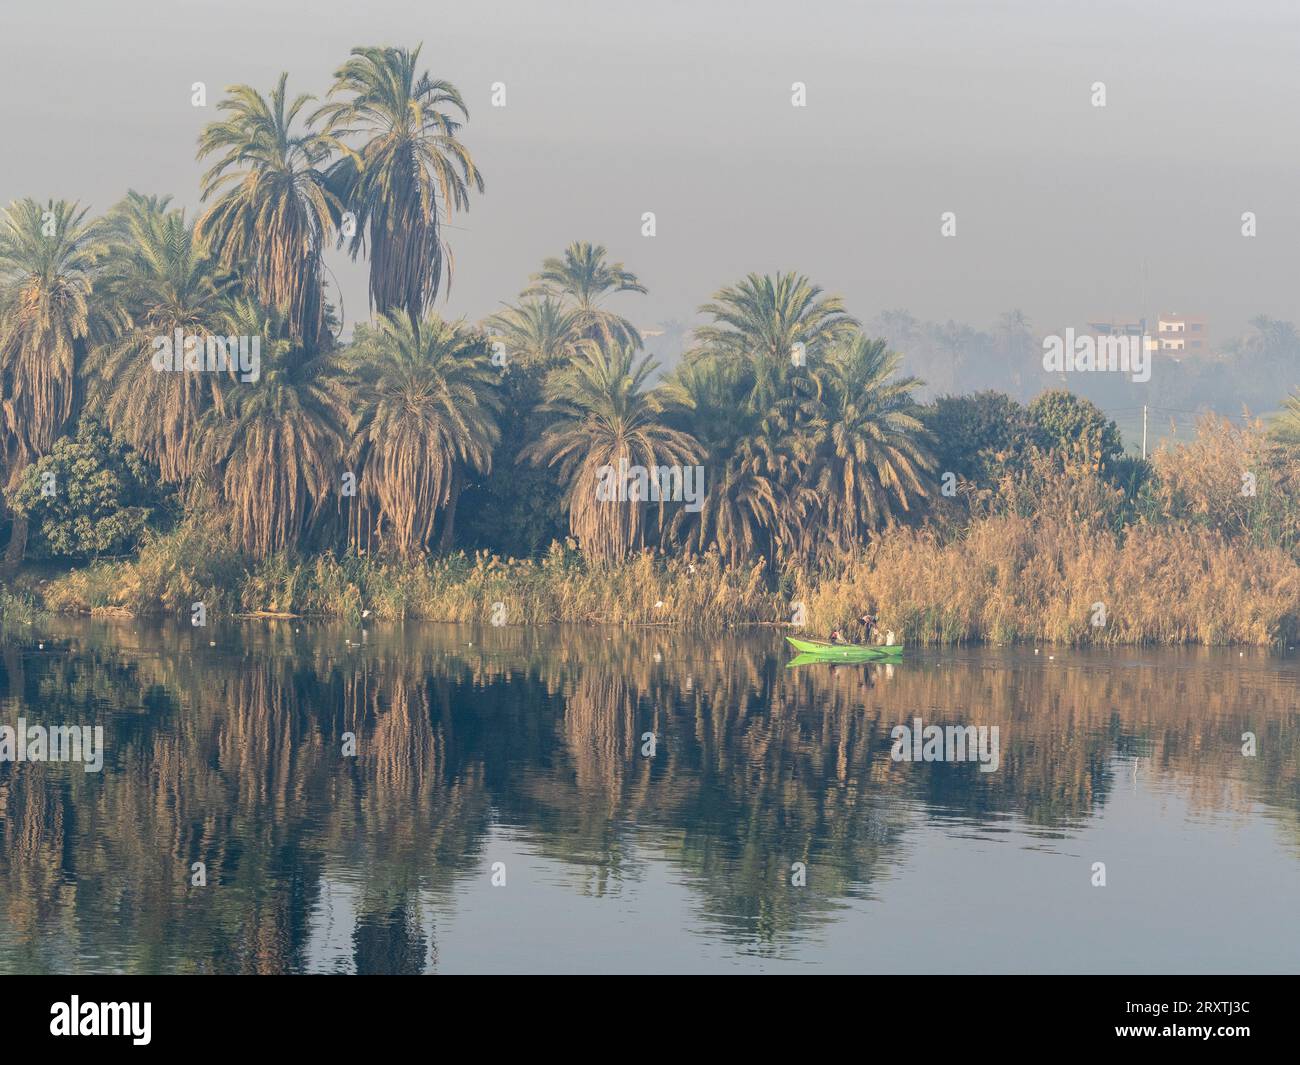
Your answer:
[[[61,200],[0,213],[9,489],[86,412],[257,557],[447,547],[456,499],[494,460],[554,467],[598,560],[653,544],[731,560],[848,545],[928,493],[918,382],[803,277],[719,291],[663,380],[606,307],[645,287],[595,244],[546,260],[480,326],[436,315],[443,226],[484,182],[459,139],[464,101],[419,73],[419,55],[354,49],[315,109],[290,99],[287,75],[269,96],[230,88],[199,138],[211,166],[194,221],[136,192],[94,220]],[[348,343],[326,296],[332,242],[369,264],[374,317]],[[260,378],[155,372],[151,342],[176,330],[259,337]],[[536,378],[542,425],[510,455],[507,375]],[[702,464],[703,507],[601,502],[597,471],[620,459]],[[25,538],[13,515],[10,564]]]

